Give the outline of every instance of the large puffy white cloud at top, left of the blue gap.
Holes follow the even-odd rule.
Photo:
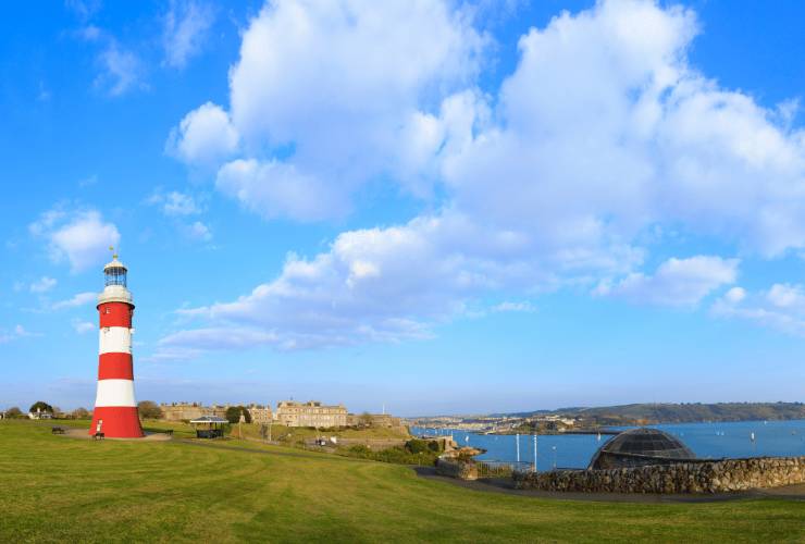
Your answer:
[[[228,194],[270,218],[342,215],[352,190],[372,177],[389,170],[413,177],[409,161],[426,160],[418,147],[428,141],[407,140],[426,140],[426,107],[478,73],[485,41],[466,13],[437,0],[267,2],[231,70],[231,114],[203,104],[174,129],[169,150],[211,164],[232,153],[239,135],[242,159],[271,175]],[[224,172],[225,188],[236,172],[237,164]],[[277,200],[250,199],[277,184]],[[326,191],[300,202],[296,194],[311,185]],[[410,185],[421,191],[421,181]]]

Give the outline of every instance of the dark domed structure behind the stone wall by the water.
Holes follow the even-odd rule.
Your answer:
[[[590,461],[591,469],[695,461],[696,455],[677,437],[659,429],[631,429],[604,444]]]

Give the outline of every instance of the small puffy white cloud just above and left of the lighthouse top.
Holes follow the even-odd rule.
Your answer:
[[[73,272],[82,272],[103,262],[109,246],[116,246],[120,242],[117,227],[103,222],[96,210],[71,213],[63,209],[50,210],[28,228],[35,236],[49,242],[48,249],[53,262],[67,260]]]

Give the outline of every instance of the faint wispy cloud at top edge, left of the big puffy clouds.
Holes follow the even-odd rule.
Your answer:
[[[201,51],[214,18],[210,4],[172,0],[162,28],[165,64],[185,67],[187,61]]]

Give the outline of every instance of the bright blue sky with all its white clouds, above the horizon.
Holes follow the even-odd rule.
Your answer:
[[[801,2],[7,10],[0,407],[803,400]]]

